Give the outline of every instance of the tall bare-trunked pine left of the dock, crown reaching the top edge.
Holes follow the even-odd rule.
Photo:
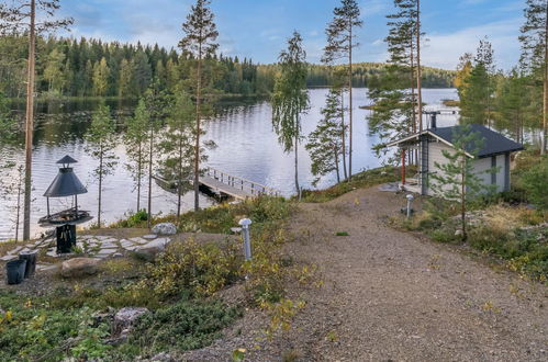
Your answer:
[[[197,58],[195,70],[195,129],[194,129],[194,211],[200,208],[200,135],[201,102],[202,102],[202,65],[203,59],[213,55],[219,47],[215,39],[219,36],[214,15],[211,12],[210,0],[197,0],[191,7],[187,21],[182,24],[184,37],[179,47],[188,55]]]

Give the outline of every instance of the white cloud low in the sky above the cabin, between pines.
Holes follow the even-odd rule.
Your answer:
[[[510,69],[519,57],[519,42],[516,30],[522,19],[488,23],[467,27],[454,33],[430,33],[429,39],[423,46],[422,60],[424,65],[445,69],[455,69],[459,57],[469,52],[476,53],[478,43],[484,36],[493,44],[496,66]]]

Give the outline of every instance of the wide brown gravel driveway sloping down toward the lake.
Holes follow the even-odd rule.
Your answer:
[[[184,358],[226,361],[246,348],[249,361],[547,361],[547,289],[385,226],[404,204],[378,188],[301,204],[287,252],[317,265],[324,285],[290,286],[306,299],[291,330],[264,340],[266,317],[248,313]]]

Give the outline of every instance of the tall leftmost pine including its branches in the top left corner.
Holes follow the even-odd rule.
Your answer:
[[[36,33],[40,33],[41,31],[54,31],[58,27],[67,27],[72,23],[71,19],[52,20],[52,16],[58,9],[59,0],[15,0],[11,5],[0,3],[0,35],[21,32],[29,34],[23,240],[29,240],[31,238],[32,146],[34,132]],[[42,23],[36,22],[36,15],[46,20]]]

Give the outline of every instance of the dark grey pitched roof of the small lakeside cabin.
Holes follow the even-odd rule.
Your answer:
[[[460,126],[429,128],[428,132],[452,145],[452,137],[456,128]],[[480,158],[523,149],[523,145],[513,142],[512,139],[508,139],[500,133],[491,131],[481,124],[472,123],[470,124],[470,127],[471,132],[478,133],[480,137],[483,138],[483,147],[477,155]],[[467,149],[467,151],[471,152],[472,150]]]

